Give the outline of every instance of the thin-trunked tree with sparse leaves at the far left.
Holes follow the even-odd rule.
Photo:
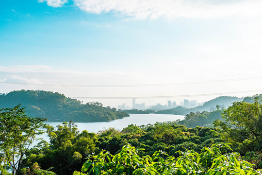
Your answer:
[[[36,135],[43,134],[45,118],[30,118],[20,105],[0,109],[0,163],[1,175],[4,169],[11,169],[16,175]]]

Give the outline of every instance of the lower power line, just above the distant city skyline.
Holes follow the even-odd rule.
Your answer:
[[[206,94],[190,94],[190,95],[167,95],[167,96],[144,96],[144,97],[70,97],[74,99],[152,99],[152,98],[178,98],[178,97],[200,97],[200,96],[211,96],[211,95],[228,95],[236,93],[246,93],[246,92],[259,92],[258,90],[246,90],[246,91],[235,91],[235,92],[220,92],[220,93],[206,93]]]

